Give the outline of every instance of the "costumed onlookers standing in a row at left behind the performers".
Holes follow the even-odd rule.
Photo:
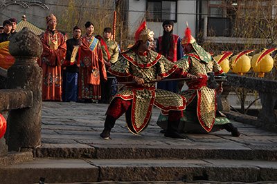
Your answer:
[[[109,103],[117,85],[112,87],[116,79],[107,70],[120,52],[111,28],[96,38],[93,23],[87,21],[84,28],[76,25],[73,38],[68,39],[65,32],[57,32],[53,14],[46,17],[46,23],[47,30],[40,35],[44,50],[37,61],[43,71],[42,100]],[[3,21],[0,43],[10,41],[16,27],[15,19]]]

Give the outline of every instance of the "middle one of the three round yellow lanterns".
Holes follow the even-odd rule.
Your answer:
[[[242,75],[243,73],[248,72],[250,68],[251,59],[247,55],[237,54],[231,58],[230,69],[233,72]]]

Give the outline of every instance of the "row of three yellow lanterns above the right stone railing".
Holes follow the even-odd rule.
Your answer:
[[[233,52],[224,52],[214,58],[225,73],[231,70],[232,72],[242,75],[243,73],[249,72],[252,67],[254,72],[259,73],[258,77],[263,77],[265,76],[265,72],[270,72],[274,66],[274,59],[270,56],[271,52],[274,52],[274,50],[277,50],[277,48],[263,50],[253,57],[248,54],[254,50],[244,50],[233,57],[231,57]],[[230,61],[229,57],[231,57]]]

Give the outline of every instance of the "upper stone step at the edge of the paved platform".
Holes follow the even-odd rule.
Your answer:
[[[38,147],[35,157],[65,159],[240,159],[276,161],[277,150],[252,149],[232,146],[230,143],[180,145],[82,145],[44,144]]]

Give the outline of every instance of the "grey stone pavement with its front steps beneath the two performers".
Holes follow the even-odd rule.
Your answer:
[[[154,108],[141,134],[122,116],[103,140],[107,106],[43,102],[42,146],[29,161],[0,167],[0,183],[277,183],[274,132],[232,121],[241,137],[222,130],[166,139]]]

